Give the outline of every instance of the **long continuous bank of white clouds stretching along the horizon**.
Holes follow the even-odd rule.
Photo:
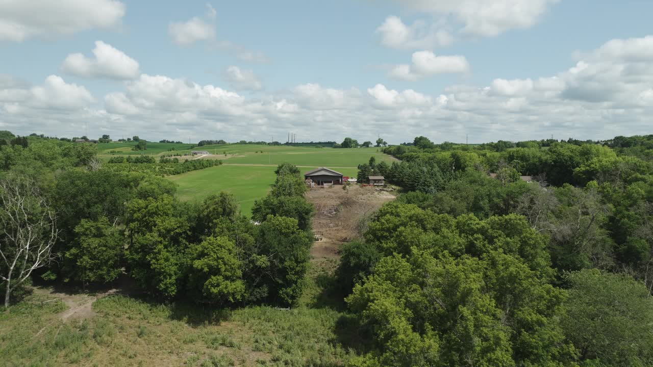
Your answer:
[[[381,133],[392,143],[419,135],[460,142],[468,134],[470,142],[484,142],[644,134],[653,115],[647,39],[606,42],[554,75],[497,78],[434,95],[387,84],[362,91],[300,84],[247,97],[222,86],[141,74],[94,108],[86,89],[58,76],[37,87],[2,76],[0,127],[54,135],[93,121],[112,135],[145,132],[153,140],[267,140],[292,131],[299,140],[370,140]]]

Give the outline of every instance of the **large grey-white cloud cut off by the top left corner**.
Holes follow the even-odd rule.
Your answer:
[[[0,40],[70,35],[93,28],[118,27],[125,5],[116,0],[0,1]]]

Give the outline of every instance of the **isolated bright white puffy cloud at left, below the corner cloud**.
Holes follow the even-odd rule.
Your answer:
[[[138,78],[138,61],[101,40],[95,41],[95,58],[83,54],[70,54],[61,70],[67,74],[86,78],[133,79]]]

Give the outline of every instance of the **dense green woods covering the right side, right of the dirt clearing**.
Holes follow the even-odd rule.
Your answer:
[[[648,141],[386,148],[406,193],[337,270],[369,341],[349,365],[652,365]]]

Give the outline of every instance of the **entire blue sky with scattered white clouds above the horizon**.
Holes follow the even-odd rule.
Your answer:
[[[0,0],[0,130],[390,144],[652,133],[653,1]]]

